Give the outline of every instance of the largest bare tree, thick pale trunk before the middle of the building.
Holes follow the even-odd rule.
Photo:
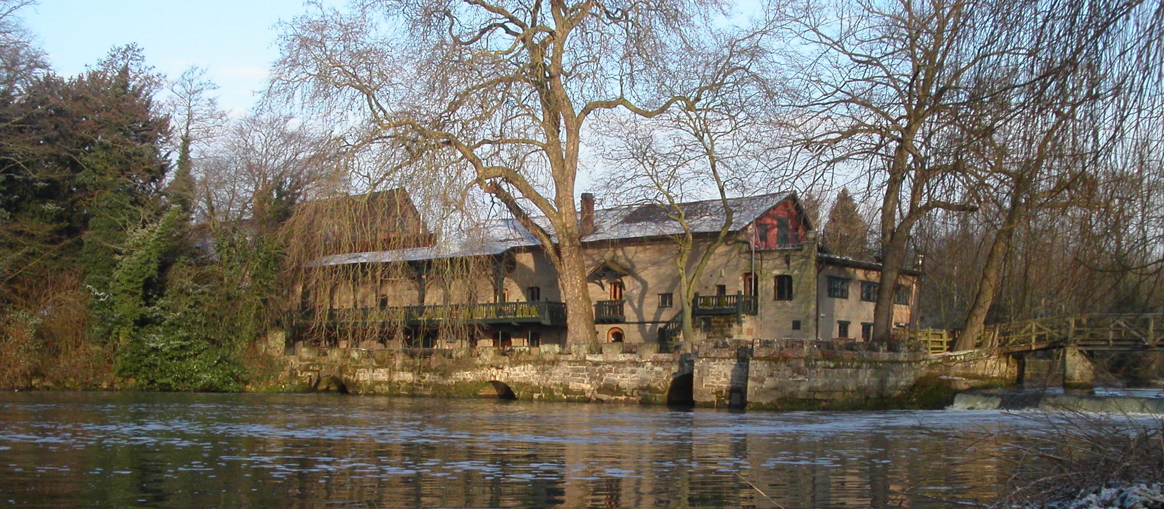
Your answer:
[[[283,27],[275,95],[345,115],[352,150],[383,156],[385,179],[414,172],[495,195],[558,268],[570,342],[594,342],[575,202],[588,121],[691,107],[700,89],[655,85],[716,40],[708,34],[718,30],[718,2],[367,0],[312,9]]]

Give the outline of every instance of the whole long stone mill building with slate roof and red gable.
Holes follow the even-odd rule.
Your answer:
[[[345,200],[362,203],[364,213],[332,214],[334,224],[315,229],[324,251],[307,264],[313,277],[293,288],[298,339],[372,349],[565,344],[569,309],[556,271],[517,220],[489,220],[436,239],[404,189]],[[732,198],[726,206],[726,242],[695,282],[696,340],[868,338],[878,264],[830,254],[795,193]],[[698,253],[724,224],[723,203],[680,208]],[[656,205],[596,209],[594,196],[582,195],[601,340],[661,349],[677,340],[676,236],[684,229],[668,212]],[[548,230],[548,222],[534,221]],[[691,258],[689,270],[698,256]],[[895,325],[914,320],[918,277],[907,270],[894,281]]]

